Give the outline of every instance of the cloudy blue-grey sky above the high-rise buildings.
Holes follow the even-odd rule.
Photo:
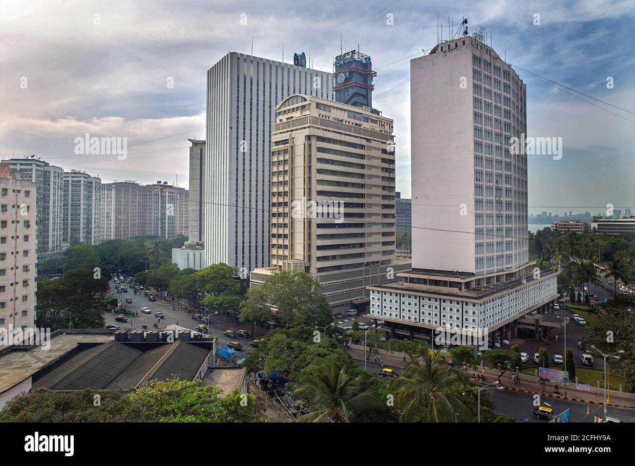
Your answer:
[[[467,17],[507,62],[590,96],[517,68],[528,136],[563,138],[561,159],[528,157],[530,213],[635,209],[632,0],[0,0],[0,157],[187,187],[206,71],[228,51],[250,53],[252,37],[253,55],[282,60],[284,46],[284,61],[305,51],[331,71],[341,33],[344,51],[372,58],[373,107],[394,119],[397,189],[410,197],[409,61],[436,44],[438,17],[455,30]],[[77,155],[86,133],[126,137],[128,156]]]

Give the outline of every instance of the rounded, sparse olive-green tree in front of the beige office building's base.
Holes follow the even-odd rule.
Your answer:
[[[269,308],[275,308],[272,312],[280,318],[281,323],[287,327],[294,324],[298,310],[309,303],[316,303],[321,296],[320,286],[316,279],[305,272],[288,270],[276,270],[267,277],[260,287],[262,292],[252,296],[251,288],[247,292],[247,299],[243,306],[241,319],[253,321],[251,318],[255,314],[261,314],[262,307],[266,303]],[[265,297],[265,303],[262,298]]]

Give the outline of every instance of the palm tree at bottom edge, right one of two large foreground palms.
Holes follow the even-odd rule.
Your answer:
[[[457,368],[447,369],[426,351],[423,363],[412,358],[408,368],[391,383],[401,422],[421,421],[427,412],[427,422],[457,422],[457,414],[470,415],[467,406],[451,394],[455,383],[464,383],[465,376]]]

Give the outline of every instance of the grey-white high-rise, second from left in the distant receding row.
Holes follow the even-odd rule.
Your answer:
[[[99,244],[102,227],[102,180],[83,171],[64,173],[65,243]]]

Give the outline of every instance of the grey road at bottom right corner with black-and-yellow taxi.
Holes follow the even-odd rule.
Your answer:
[[[514,390],[487,390],[494,403],[494,411],[516,418],[529,418],[529,422],[547,422],[531,416],[533,408],[533,395],[529,393],[516,392]],[[604,406],[601,404],[585,404],[578,401],[569,401],[558,398],[544,397],[545,403],[551,404],[555,413],[562,413],[565,409],[570,409],[571,422],[593,422],[594,416],[604,417]],[[590,414],[587,415],[587,406]],[[614,408],[608,406],[606,409],[608,416],[616,417],[622,422],[635,422],[635,409]]]

